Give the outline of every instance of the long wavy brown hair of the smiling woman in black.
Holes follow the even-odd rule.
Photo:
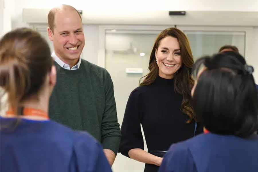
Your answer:
[[[190,44],[185,36],[185,34],[177,28],[167,28],[163,30],[158,37],[156,38],[155,44],[150,54],[149,61],[149,73],[140,79],[140,85],[150,85],[155,81],[159,75],[159,67],[156,63],[155,51],[159,47],[160,41],[167,37],[171,36],[177,38],[180,46],[182,66],[177,73],[174,74],[175,78],[175,92],[183,96],[183,101],[181,103],[181,111],[189,116],[189,120],[186,123],[189,123],[193,119],[193,103],[191,98],[191,89],[194,84],[194,80],[191,77],[191,69],[193,66],[193,55],[191,52]]]

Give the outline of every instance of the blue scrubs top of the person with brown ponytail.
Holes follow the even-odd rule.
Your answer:
[[[112,172],[101,145],[86,132],[51,120],[0,118],[0,171]]]

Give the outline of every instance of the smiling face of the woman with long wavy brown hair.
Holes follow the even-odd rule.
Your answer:
[[[167,36],[160,40],[159,47],[155,51],[155,57],[159,67],[159,76],[165,79],[172,79],[182,65],[177,38]]]

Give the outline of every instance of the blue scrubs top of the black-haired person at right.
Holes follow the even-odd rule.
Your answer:
[[[159,172],[257,172],[258,137],[200,134],[173,144]]]

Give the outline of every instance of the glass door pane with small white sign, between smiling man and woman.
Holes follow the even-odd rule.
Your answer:
[[[139,86],[139,79],[148,73],[150,53],[159,32],[106,30],[105,67],[114,83],[118,122],[120,125],[122,124],[130,93]],[[145,140],[144,148],[147,150]],[[113,169],[117,172],[142,172],[144,163],[129,159],[118,153]]]

